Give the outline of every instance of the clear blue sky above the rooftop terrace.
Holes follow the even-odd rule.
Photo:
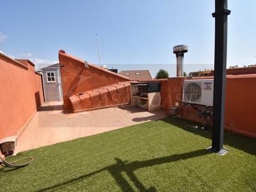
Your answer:
[[[229,0],[227,65],[256,63],[256,1]],[[0,50],[37,68],[63,49],[121,70],[164,68],[175,76],[175,45],[186,44],[185,71],[213,68],[213,0],[2,1]]]

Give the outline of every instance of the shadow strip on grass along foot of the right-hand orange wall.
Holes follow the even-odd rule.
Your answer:
[[[211,139],[211,129],[193,129],[187,126],[191,125],[199,125],[195,122],[191,122],[185,119],[175,118],[175,117],[167,117],[165,119],[161,119],[158,121],[164,121],[173,126],[177,126],[183,130],[191,132],[196,135],[200,135],[201,137],[205,137],[207,139]],[[224,131],[224,145],[229,145],[234,147],[235,149],[242,150],[246,153],[250,153],[252,155],[256,155],[256,139],[252,137],[247,137],[245,135],[235,134],[233,132]],[[206,146],[209,147],[209,146]]]

